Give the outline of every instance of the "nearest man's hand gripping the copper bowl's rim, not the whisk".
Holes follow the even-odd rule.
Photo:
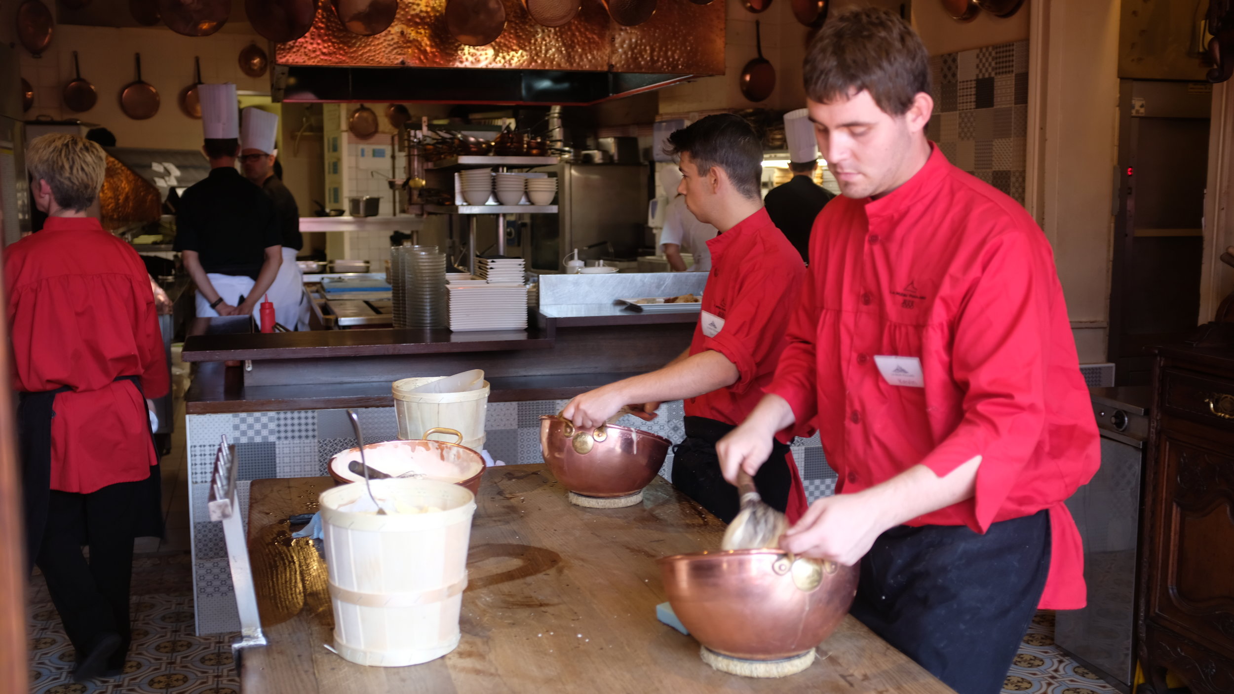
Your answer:
[[[860,491],[824,496],[784,533],[780,548],[798,557],[830,559],[849,567],[892,525],[886,522],[879,501]]]

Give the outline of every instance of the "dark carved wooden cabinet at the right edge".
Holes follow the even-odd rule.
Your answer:
[[[1137,587],[1144,674],[1234,692],[1234,348],[1161,348]]]

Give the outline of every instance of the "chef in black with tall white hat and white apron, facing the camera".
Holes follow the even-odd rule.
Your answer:
[[[257,106],[241,111],[239,163],[244,178],[270,196],[279,215],[283,264],[269,291],[275,321],[290,330],[308,330],[308,296],[304,290],[304,275],[296,265],[296,253],[305,246],[300,236],[300,207],[288,186],[283,185],[283,179],[274,173],[279,153],[274,146],[278,132],[278,115]]]

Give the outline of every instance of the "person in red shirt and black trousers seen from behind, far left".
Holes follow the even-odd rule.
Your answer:
[[[48,217],[4,249],[4,283],[27,553],[77,650],[74,679],[85,682],[122,672],[133,537],[162,535],[146,398],[167,394],[168,370],[144,264],[85,216],[102,185],[102,148],[44,135],[26,167]]]

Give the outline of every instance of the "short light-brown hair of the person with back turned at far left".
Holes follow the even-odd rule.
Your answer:
[[[47,182],[57,205],[81,211],[99,196],[107,175],[107,153],[77,135],[43,135],[26,148],[26,169],[36,182]]]

